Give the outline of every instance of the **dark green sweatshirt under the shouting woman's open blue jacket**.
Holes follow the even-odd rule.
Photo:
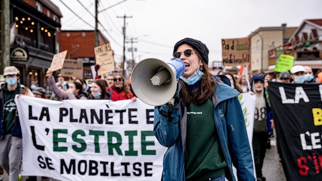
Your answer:
[[[213,103],[187,106],[186,180],[208,180],[225,173],[227,163],[213,119]]]

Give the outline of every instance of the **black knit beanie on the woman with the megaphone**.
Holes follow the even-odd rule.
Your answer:
[[[203,44],[199,40],[194,40],[194,39],[191,39],[191,38],[185,38],[185,39],[182,39],[181,41],[178,41],[174,45],[173,53],[175,53],[176,50],[178,49],[178,47],[183,45],[183,44],[190,45],[193,49],[195,49],[199,53],[199,55],[201,56],[203,61],[208,65],[209,50],[208,50],[208,48],[207,48],[207,46],[205,44]]]

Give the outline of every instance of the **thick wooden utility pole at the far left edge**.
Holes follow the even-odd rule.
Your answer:
[[[4,74],[4,68],[10,65],[10,0],[1,1],[1,57],[0,70]]]

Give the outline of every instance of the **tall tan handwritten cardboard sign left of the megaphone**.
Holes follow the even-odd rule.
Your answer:
[[[105,44],[94,48],[96,64],[99,64],[98,75],[109,73],[115,70],[114,56],[111,44]]]

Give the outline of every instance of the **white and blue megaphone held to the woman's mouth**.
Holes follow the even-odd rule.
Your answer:
[[[185,72],[185,63],[178,58],[167,62],[147,58],[132,71],[131,85],[135,95],[150,105],[163,105],[175,94],[177,78]]]

